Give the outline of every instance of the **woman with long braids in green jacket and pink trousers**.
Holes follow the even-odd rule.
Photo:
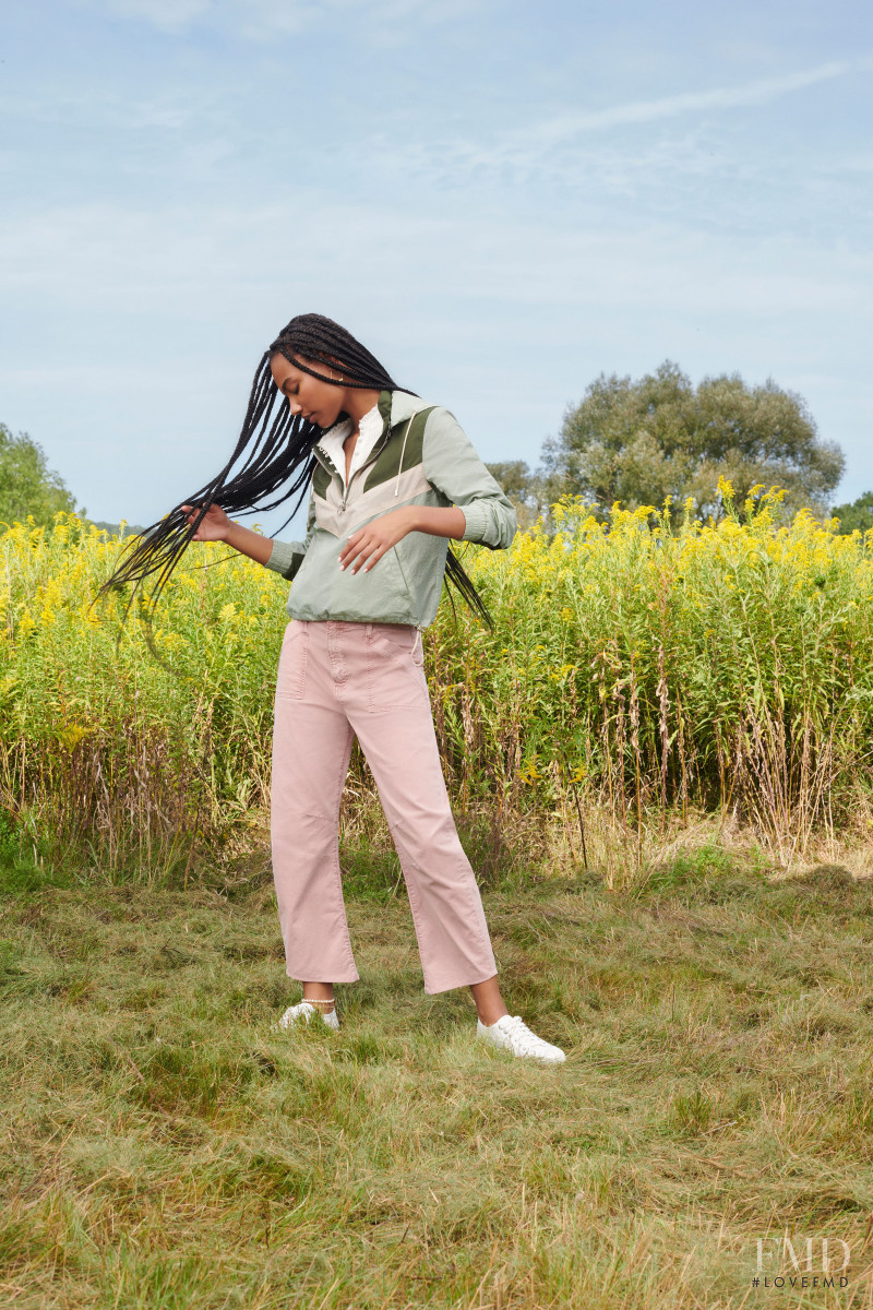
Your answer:
[[[306,486],[302,542],[232,521]],[[149,529],[113,579],[157,572],[157,595],[194,540],[221,541],[293,583],[276,683],[271,834],[287,971],[302,982],[302,1001],[283,1028],[317,1015],[338,1028],[334,982],[359,979],[338,848],[357,736],[401,858],[425,993],[467,985],[480,1038],[516,1056],[565,1058],[509,1015],[500,994],[423,669],[421,630],[444,575],[488,618],[449,538],[505,549],[514,532],[512,503],[455,419],[399,388],[346,329],[300,314],[260,362],[230,462]]]

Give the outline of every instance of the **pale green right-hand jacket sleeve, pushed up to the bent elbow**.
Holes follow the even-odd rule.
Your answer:
[[[505,550],[516,536],[516,507],[476,455],[454,414],[435,409],[424,428],[424,476],[463,511],[463,541]]]

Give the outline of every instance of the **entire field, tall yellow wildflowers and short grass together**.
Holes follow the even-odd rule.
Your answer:
[[[116,540],[0,538],[0,1310],[873,1307],[873,534],[775,503],[559,506],[465,553],[493,631],[428,630],[558,1069],[424,996],[360,753],[361,981],[339,1034],[276,1032],[287,586],[195,548],[149,629],[96,603]]]

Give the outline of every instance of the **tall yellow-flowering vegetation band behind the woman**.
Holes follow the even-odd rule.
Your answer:
[[[734,508],[722,482],[705,525],[691,500],[678,525],[671,506],[605,525],[571,499],[554,536],[467,553],[495,631],[444,604],[425,641],[458,811],[495,833],[564,823],[582,859],[594,811],[637,852],[671,816],[729,812],[783,865],[866,823],[873,540],[780,524],[759,491]],[[192,548],[156,660],[122,599],[93,605],[118,552],[75,519],[0,540],[0,803],[55,849],[187,859],[266,807],[287,586]],[[359,760],[353,804],[373,793]]]

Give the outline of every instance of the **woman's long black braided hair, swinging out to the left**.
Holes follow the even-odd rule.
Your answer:
[[[241,516],[275,510],[300,491],[300,498],[283,528],[291,523],[304,502],[317,462],[313,445],[321,436],[321,428],[301,414],[292,414],[289,406],[281,403],[281,393],[270,369],[270,360],[276,354],[284,355],[294,368],[329,385],[416,394],[406,386],[398,386],[378,359],[332,318],[325,318],[323,314],[297,314],[281,329],[260,358],[242,431],[225,466],[199,491],[179,502],[165,517],[134,538],[130,550],[122,555],[118,569],[101,592],[116,590],[126,583],[134,583],[136,591],[147,578],[156,576],[148,603],[148,609],[153,610],[212,504],[220,504],[230,516]],[[326,377],[304,364],[304,359],[326,364],[329,369],[339,365],[343,381]],[[276,410],[277,400],[280,405]],[[188,516],[182,510],[183,504],[196,508],[192,523],[188,523]],[[281,532],[283,528],[277,531]],[[470,608],[493,627],[484,601],[450,548],[446,554],[445,576]],[[452,604],[454,608],[454,601]]]

